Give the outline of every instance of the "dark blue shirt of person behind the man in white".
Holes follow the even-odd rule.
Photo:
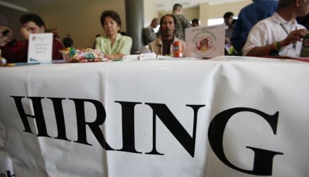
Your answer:
[[[232,45],[234,45],[237,52],[242,52],[242,47],[244,47],[251,28],[264,18],[272,16],[277,10],[277,6],[278,1],[276,0],[255,0],[242,8],[231,38]]]

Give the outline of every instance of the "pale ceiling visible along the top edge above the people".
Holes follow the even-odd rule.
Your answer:
[[[28,11],[28,8],[33,6],[40,6],[43,4],[50,4],[56,0],[1,0],[0,5],[15,8],[20,11]],[[145,0],[144,0],[145,1]],[[179,3],[183,5],[183,8],[198,6],[209,2],[210,4],[224,4],[233,1],[245,1],[245,0],[153,0],[155,1],[158,11],[171,11],[173,4]]]

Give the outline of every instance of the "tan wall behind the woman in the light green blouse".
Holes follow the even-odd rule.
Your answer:
[[[94,36],[104,34],[100,16],[105,10],[119,13],[121,30],[126,31],[124,0],[58,0],[31,8],[44,19],[47,28],[58,28],[61,38],[70,34],[75,47],[92,47]]]

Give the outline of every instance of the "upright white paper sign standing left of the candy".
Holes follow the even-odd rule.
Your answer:
[[[53,55],[53,33],[29,35],[28,62],[51,62]]]

